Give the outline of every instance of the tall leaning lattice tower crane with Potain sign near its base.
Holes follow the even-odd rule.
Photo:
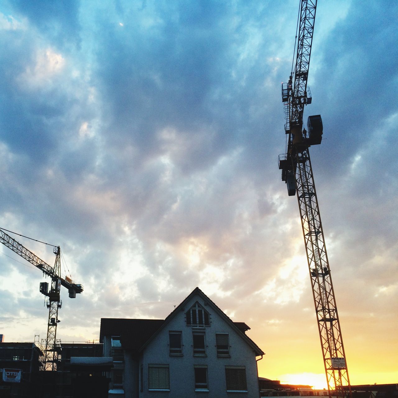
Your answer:
[[[309,116],[303,129],[304,105],[312,102],[307,80],[316,4],[300,1],[294,75],[292,68],[289,82],[282,83],[287,148],[278,163],[289,196],[297,194],[329,396],[343,397],[351,396],[351,387],[309,152],[322,141],[321,116]]]

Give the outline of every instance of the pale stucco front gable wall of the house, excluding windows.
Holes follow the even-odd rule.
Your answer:
[[[185,322],[185,312],[198,301],[210,314],[210,326],[193,328]],[[170,356],[169,330],[182,332],[183,356]],[[207,357],[193,356],[193,331],[205,332]],[[217,357],[216,332],[228,332],[230,358]],[[161,332],[145,347],[139,366],[143,364],[144,388],[140,398],[147,397],[209,397],[209,398],[252,398],[259,397],[256,357],[252,347],[236,332],[210,304],[206,305],[197,295],[175,314]],[[170,391],[148,391],[148,364],[169,364]],[[207,365],[209,392],[195,392],[194,365]],[[225,365],[245,366],[248,392],[226,392]]]

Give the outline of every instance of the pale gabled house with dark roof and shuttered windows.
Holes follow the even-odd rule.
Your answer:
[[[102,318],[109,396],[259,397],[263,351],[199,288],[164,320]],[[124,394],[124,395],[122,395]]]

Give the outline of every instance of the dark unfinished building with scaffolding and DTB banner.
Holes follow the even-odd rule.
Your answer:
[[[0,397],[107,398],[113,367],[99,343],[57,344],[57,371],[46,371],[44,348],[34,343],[0,343]]]

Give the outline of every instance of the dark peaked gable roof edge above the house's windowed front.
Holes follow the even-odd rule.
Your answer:
[[[238,322],[239,325],[236,325],[234,322],[232,322],[232,320],[228,316],[226,316],[226,314],[224,314],[224,312],[222,312],[222,310],[220,310],[220,308],[209,297],[207,297],[205,293],[203,293],[201,289],[199,289],[199,287],[193,289],[191,294],[187,296],[176,308],[174,308],[173,312],[171,312],[169,316],[164,320],[164,323],[160,326],[160,328],[156,330],[154,334],[152,334],[152,336],[142,345],[142,347],[140,347],[140,350],[143,349],[146,345],[148,345],[148,343],[155,338],[155,336],[160,332],[160,330],[162,330],[168,324],[168,322],[178,313],[178,311],[181,310],[181,308],[184,308],[185,303],[195,295],[199,295],[205,302],[207,302],[207,304],[210,305],[213,308],[213,310],[217,312],[220,318],[224,319],[224,321],[226,321],[231,326],[232,329],[234,329],[244,340],[246,340],[246,342],[256,352],[256,356],[264,354],[261,348],[259,348],[258,345],[252,339],[246,336],[246,334],[244,333],[246,330],[249,330],[250,328],[244,322]]]

